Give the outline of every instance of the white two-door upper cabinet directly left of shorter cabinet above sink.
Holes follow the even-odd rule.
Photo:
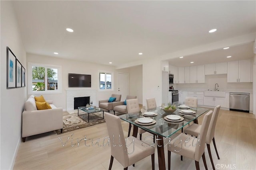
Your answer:
[[[204,65],[190,67],[190,83],[204,83]]]

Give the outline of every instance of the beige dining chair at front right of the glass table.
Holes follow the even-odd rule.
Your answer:
[[[212,111],[210,110],[204,116],[202,122],[202,128],[200,129],[200,140],[193,140],[190,135],[186,135],[184,133],[180,133],[175,139],[170,142],[168,145],[168,170],[170,170],[170,162],[171,162],[171,152],[176,154],[180,154],[182,156],[186,156],[190,159],[195,160],[196,170],[199,170],[199,160],[202,157],[204,162],[204,167],[207,169],[205,155],[204,155],[204,147],[206,141],[206,135],[209,128],[210,120],[212,117]],[[188,140],[189,139],[189,140]],[[180,142],[182,141],[182,143]],[[185,142],[187,141],[187,142]]]

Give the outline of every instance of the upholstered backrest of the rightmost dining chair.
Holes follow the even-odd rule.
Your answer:
[[[216,106],[212,113],[212,119],[210,121],[209,129],[208,129],[207,136],[206,136],[207,144],[210,144],[212,139],[214,138],[214,132],[215,132],[215,127],[216,127],[216,122],[217,122],[217,118],[219,115],[219,111],[220,111],[220,105]]]

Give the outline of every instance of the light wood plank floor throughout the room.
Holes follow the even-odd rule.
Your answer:
[[[203,116],[200,117],[199,124]],[[124,135],[128,134],[128,123],[122,121]],[[72,135],[74,134],[74,135]],[[84,142],[78,147],[77,139],[94,139],[94,143],[100,139],[102,145],[104,137],[108,137],[106,123],[94,125],[84,129],[56,135],[55,132],[35,135],[21,143],[14,164],[14,170],[48,170],[48,169],[74,169],[74,170],[107,170],[110,162],[110,147],[86,147]],[[144,133],[143,137],[149,136]],[[65,147],[63,143],[70,137]],[[73,145],[71,140],[73,138]],[[217,159],[213,144],[211,143],[212,157],[216,169],[237,169],[255,170],[256,169],[256,119],[255,115],[236,111],[220,110],[215,131],[215,141],[218,148],[220,160]],[[91,145],[91,143],[86,143]],[[166,167],[167,166],[167,147],[165,147]],[[212,169],[207,149],[205,156],[208,169]],[[200,168],[204,169],[202,158]],[[157,150],[155,151],[155,167],[158,169]],[[122,165],[114,160],[112,170],[121,170]],[[130,170],[150,170],[151,157],[147,157],[130,166]],[[183,158],[180,160],[178,154],[172,153],[171,169],[193,170],[196,169],[194,160]]]

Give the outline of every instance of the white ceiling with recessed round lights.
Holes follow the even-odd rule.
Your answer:
[[[28,53],[99,64],[112,62],[114,66],[256,31],[256,1],[56,0],[13,4]],[[213,28],[217,31],[208,33]],[[198,55],[200,59],[196,55],[189,58],[196,64],[216,63],[230,54],[232,59],[244,54],[252,57],[252,50],[250,54],[242,51],[250,51],[249,46],[239,49],[232,47],[229,54],[217,50]],[[143,55],[138,55],[140,52]],[[182,66],[180,61],[172,61]]]

